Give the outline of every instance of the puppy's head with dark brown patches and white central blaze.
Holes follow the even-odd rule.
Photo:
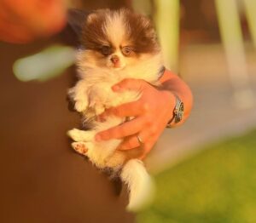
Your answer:
[[[100,9],[89,14],[82,27],[81,43],[92,66],[117,70],[160,52],[150,20],[128,9]]]

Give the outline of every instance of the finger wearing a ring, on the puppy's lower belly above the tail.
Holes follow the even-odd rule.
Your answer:
[[[143,140],[142,143],[138,140],[137,136]],[[131,150],[137,147],[144,146],[144,144],[147,144],[147,141],[150,139],[151,133],[148,131],[143,131],[139,134],[132,135],[129,137],[126,137],[125,140],[122,142],[122,144],[119,146],[119,150]]]

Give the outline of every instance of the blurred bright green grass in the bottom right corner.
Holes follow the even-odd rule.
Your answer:
[[[140,223],[256,222],[256,130],[218,144],[156,176]]]

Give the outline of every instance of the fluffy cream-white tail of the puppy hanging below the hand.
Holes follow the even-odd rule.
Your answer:
[[[141,160],[125,163],[120,176],[130,191],[128,210],[138,211],[152,202],[154,183]]]

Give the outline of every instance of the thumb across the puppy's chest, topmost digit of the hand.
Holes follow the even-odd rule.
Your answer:
[[[113,91],[138,90],[141,91],[147,86],[147,83],[141,79],[125,79],[113,85]]]

